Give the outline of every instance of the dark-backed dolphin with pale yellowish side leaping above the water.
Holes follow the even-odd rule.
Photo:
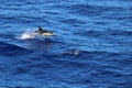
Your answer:
[[[44,36],[52,36],[54,35],[52,31],[43,30],[41,26],[38,26],[38,30],[34,32],[35,34],[44,35]]]

